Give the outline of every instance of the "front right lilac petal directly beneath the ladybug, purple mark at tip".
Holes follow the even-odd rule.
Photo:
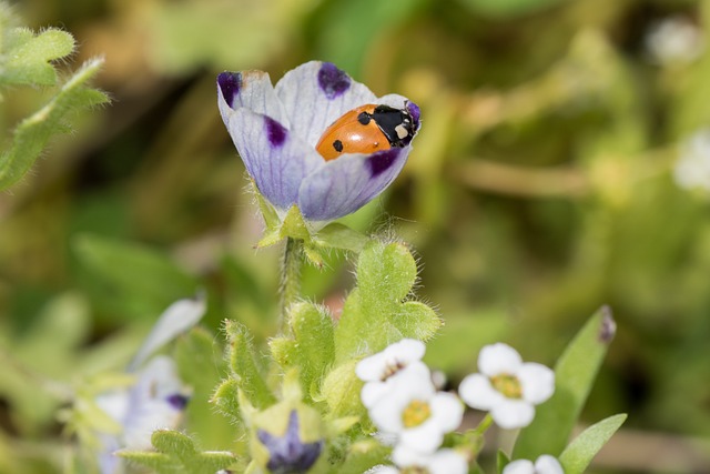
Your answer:
[[[344,154],[308,175],[298,190],[298,208],[311,221],[351,214],[373,200],[399,174],[410,147],[373,154]]]

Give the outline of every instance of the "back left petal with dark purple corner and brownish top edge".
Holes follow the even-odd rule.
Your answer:
[[[245,108],[290,127],[288,115],[264,71],[223,72],[217,75],[217,104],[224,124],[235,110]]]

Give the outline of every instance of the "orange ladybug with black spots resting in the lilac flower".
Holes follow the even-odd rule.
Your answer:
[[[367,104],[345,112],[328,127],[315,149],[326,160],[343,153],[374,153],[406,147],[415,121],[406,109]]]

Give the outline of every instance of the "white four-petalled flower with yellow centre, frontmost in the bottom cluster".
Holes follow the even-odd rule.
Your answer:
[[[444,434],[462,423],[464,406],[456,395],[437,392],[426,365],[410,365],[392,379],[392,390],[369,409],[369,417],[397,443],[424,453],[436,451]]]

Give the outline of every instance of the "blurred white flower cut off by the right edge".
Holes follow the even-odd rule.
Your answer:
[[[682,189],[710,191],[710,129],[699,130],[687,140],[673,177]]]

